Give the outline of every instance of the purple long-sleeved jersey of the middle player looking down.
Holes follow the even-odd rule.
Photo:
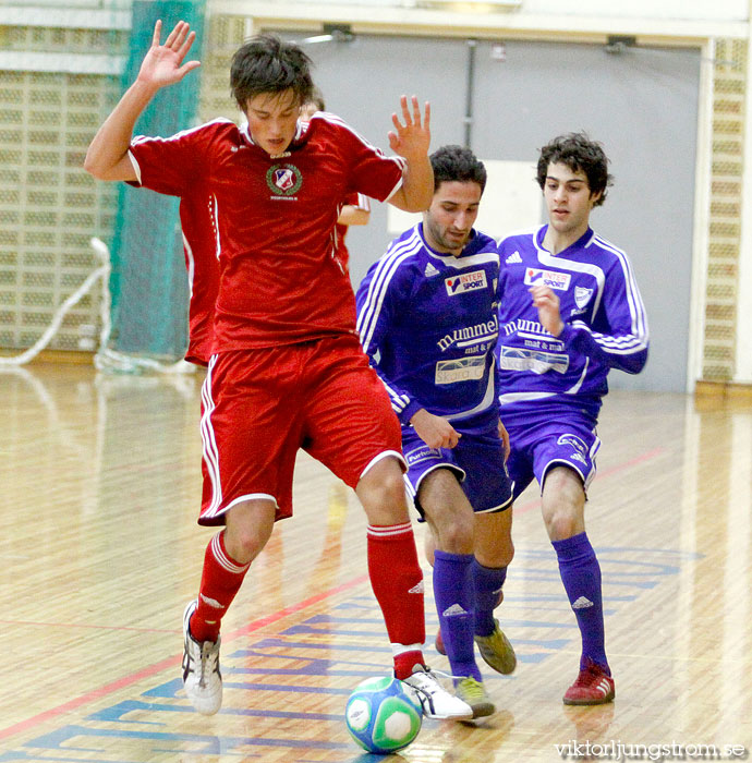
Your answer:
[[[459,257],[439,254],[423,223],[371,266],[355,294],[357,330],[403,426],[424,408],[458,432],[496,428],[498,275],[494,239],[473,231]]]

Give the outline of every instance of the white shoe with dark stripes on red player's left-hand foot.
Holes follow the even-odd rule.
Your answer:
[[[222,675],[219,673],[219,644],[196,641],[189,623],[197,602],[190,602],[183,613],[183,686],[193,708],[202,715],[214,715],[222,705]]]

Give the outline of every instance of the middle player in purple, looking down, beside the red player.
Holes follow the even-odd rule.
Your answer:
[[[439,148],[430,164],[430,207],[366,274],[357,328],[402,424],[405,480],[435,543],[434,596],[457,695],[480,717],[495,708],[473,640],[499,673],[517,664],[493,616],[513,555],[494,360],[499,259],[494,240],[473,229],[483,164],[460,146]]]

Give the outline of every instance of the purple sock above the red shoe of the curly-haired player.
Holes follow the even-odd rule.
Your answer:
[[[577,617],[582,635],[580,668],[586,657],[601,665],[610,676],[606,659],[601,596],[601,566],[586,533],[563,541],[551,541],[559,558],[559,572],[569,603]]]

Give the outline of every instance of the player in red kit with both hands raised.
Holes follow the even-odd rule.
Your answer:
[[[401,99],[387,157],[331,114],[299,121],[313,83],[294,44],[259,35],[234,55],[230,81],[247,118],[167,138],[132,137],[154,95],[199,65],[180,22],[157,22],[138,76],[95,135],[86,169],[160,193],[205,198],[219,258],[214,338],[202,391],[199,523],[223,525],[183,617],[183,682],[194,708],[221,706],[220,622],[274,523],[292,513],[295,453],[305,448],[351,485],[368,519],[368,571],[392,644],[395,675],[429,717],[471,717],[425,666],[423,576],[404,497],[400,427],[363,354],[355,301],[333,228],[353,191],[411,211],[433,194],[429,110]]]

